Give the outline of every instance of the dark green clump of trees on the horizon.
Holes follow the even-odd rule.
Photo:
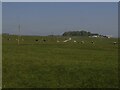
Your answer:
[[[63,33],[63,36],[93,36],[93,35],[99,35],[99,34],[87,32],[83,30],[82,31],[68,31],[68,32]]]

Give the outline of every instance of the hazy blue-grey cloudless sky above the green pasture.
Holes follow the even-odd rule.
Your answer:
[[[85,30],[118,36],[117,2],[3,2],[2,32],[61,35]]]

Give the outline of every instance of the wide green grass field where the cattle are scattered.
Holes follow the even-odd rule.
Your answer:
[[[118,87],[118,46],[113,45],[118,42],[116,38],[72,37],[70,42],[57,43],[57,39],[68,37],[22,36],[20,45],[16,38],[3,36],[3,88]]]

